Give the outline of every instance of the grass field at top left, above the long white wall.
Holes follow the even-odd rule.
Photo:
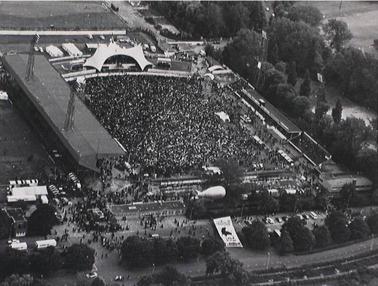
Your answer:
[[[0,28],[125,28],[102,1],[0,1]]]

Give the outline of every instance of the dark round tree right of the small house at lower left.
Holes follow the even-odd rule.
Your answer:
[[[51,233],[51,228],[58,222],[56,209],[51,204],[39,204],[28,219],[29,236],[45,236]]]

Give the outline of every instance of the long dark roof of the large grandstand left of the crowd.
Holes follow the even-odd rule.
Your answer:
[[[77,162],[97,170],[98,158],[124,155],[118,143],[76,97],[74,130],[62,130],[70,96],[70,86],[43,55],[35,55],[35,75],[25,80],[27,54],[6,55],[3,62],[42,113]]]

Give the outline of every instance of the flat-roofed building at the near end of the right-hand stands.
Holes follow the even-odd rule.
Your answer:
[[[319,183],[330,193],[339,192],[347,183],[354,183],[356,191],[369,191],[372,187],[372,182],[358,173],[321,174]]]

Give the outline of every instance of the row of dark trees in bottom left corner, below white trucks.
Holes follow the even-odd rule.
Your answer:
[[[91,269],[94,254],[95,250],[86,244],[72,244],[64,252],[48,247],[37,254],[8,248],[0,256],[0,279],[16,273],[36,272],[48,275],[60,268],[75,271]]]

